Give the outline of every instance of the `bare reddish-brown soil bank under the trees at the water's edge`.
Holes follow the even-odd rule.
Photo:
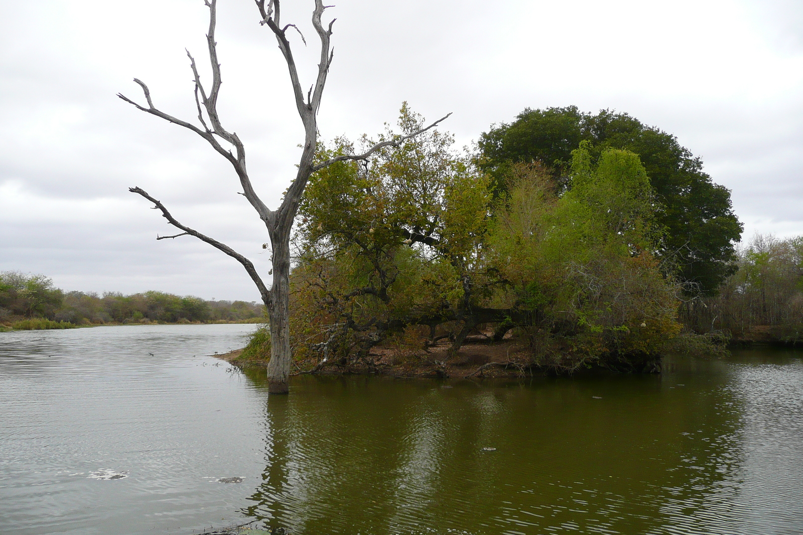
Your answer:
[[[426,351],[410,351],[402,347],[373,347],[369,359],[361,363],[332,360],[316,370],[321,375],[377,374],[399,378],[469,378],[514,377],[525,374],[530,359],[524,342],[506,338],[492,342],[487,334],[468,336],[456,353],[448,339],[435,342]],[[242,349],[213,355],[238,367],[266,367],[270,355],[242,358]],[[316,363],[296,363],[293,375],[311,373]]]

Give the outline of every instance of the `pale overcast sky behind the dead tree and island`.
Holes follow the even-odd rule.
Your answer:
[[[678,137],[732,190],[745,225],[803,234],[800,0],[340,0],[320,110],[326,139],[381,132],[403,100],[471,144],[525,107],[626,111]],[[284,0],[305,85],[318,49],[312,0]],[[162,290],[259,298],[242,267],[171,233],[128,187],[233,246],[267,278],[267,232],[206,142],[116,98],[192,120],[187,47],[202,66],[203,0],[40,0],[0,6],[0,271],[65,290]],[[294,176],[303,129],[287,69],[251,0],[218,0],[224,127],[247,147],[273,208]],[[202,67],[202,78],[210,79]]]

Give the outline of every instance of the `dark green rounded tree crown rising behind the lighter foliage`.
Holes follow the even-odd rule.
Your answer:
[[[566,187],[572,151],[589,141],[596,161],[609,148],[634,152],[640,158],[655,201],[656,217],[666,229],[658,247],[671,260],[675,274],[696,290],[711,293],[734,272],[734,242],[742,225],[732,211],[730,192],[703,172],[703,163],[675,136],[648,127],[626,113],[584,113],[577,107],[526,109],[511,124],[483,133],[479,167],[495,181],[497,194],[503,176],[517,162],[540,162],[552,170],[559,187]]]

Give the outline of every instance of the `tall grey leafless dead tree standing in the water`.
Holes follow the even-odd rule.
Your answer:
[[[209,32],[206,34],[206,42],[209,48],[209,59],[212,67],[212,86],[208,92],[201,83],[201,77],[198,75],[195,59],[190,55],[190,52],[187,51],[187,56],[190,58],[190,68],[193,71],[195,80],[195,103],[198,107],[198,121],[200,122],[200,126],[185,120],[177,119],[159,110],[157,107],[154,107],[148,86],[139,79],[135,78],[134,82],[142,87],[142,91],[145,93],[147,106],[142,106],[124,95],[118,94],[117,96],[136,106],[141,111],[146,111],[151,115],[161,117],[161,119],[167,120],[170,123],[178,124],[181,127],[195,132],[198,136],[206,140],[215,151],[220,153],[226,160],[229,160],[230,164],[234,167],[234,172],[237,173],[240,185],[243,187],[243,195],[247,198],[248,202],[251,203],[251,206],[254,207],[259,218],[267,227],[267,233],[271,240],[271,261],[273,264],[273,284],[271,289],[267,289],[267,286],[257,273],[254,264],[248,260],[247,257],[237,253],[234,249],[231,249],[228,245],[220,241],[214,240],[188,226],[182,225],[169,213],[160,201],[151,197],[149,193],[145,192],[142,188],[129,188],[129,191],[137,193],[151,201],[155,205],[155,208],[161,211],[161,215],[167,219],[170,225],[181,229],[181,233],[170,237],[184,235],[197,237],[202,241],[206,241],[206,243],[213,247],[220,249],[223,253],[233,257],[243,265],[251,277],[251,280],[254,281],[259,289],[259,294],[262,296],[263,302],[268,310],[268,317],[270,320],[271,361],[267,367],[268,391],[272,394],[284,394],[288,391],[287,379],[290,375],[292,359],[288,321],[290,312],[290,233],[293,221],[296,218],[301,196],[304,194],[304,188],[307,186],[309,177],[313,172],[333,164],[336,161],[366,160],[373,152],[376,152],[380,148],[398,147],[403,141],[410,137],[418,136],[418,134],[433,128],[442,120],[445,120],[448,115],[435,121],[426,128],[414,132],[410,136],[402,136],[374,145],[363,154],[337,156],[335,159],[315,164],[314,157],[318,134],[316,116],[320,108],[321,97],[324,93],[326,76],[328,75],[329,67],[332,65],[333,52],[330,45],[330,38],[332,36],[332,25],[335,21],[332,19],[332,21],[328,23],[328,26],[324,26],[321,22],[321,17],[324,14],[324,10],[329,6],[324,6],[322,0],[315,0],[315,9],[312,11],[312,26],[315,27],[316,33],[320,39],[320,63],[318,64],[318,74],[315,83],[310,87],[307,95],[304,95],[304,89],[301,86],[290,42],[287,40],[287,30],[290,28],[298,30],[298,27],[295,24],[281,25],[279,22],[279,0],[269,0],[267,5],[265,0],[255,0],[256,6],[259,9],[259,23],[263,26],[267,26],[275,35],[276,40],[279,42],[279,50],[282,52],[287,62],[287,69],[290,71],[290,81],[296,100],[296,109],[298,110],[302,124],[304,124],[305,132],[304,145],[296,178],[292,180],[290,187],[287,188],[287,193],[284,195],[279,208],[275,210],[268,209],[267,205],[263,203],[255,192],[251,184],[251,179],[248,176],[243,142],[238,138],[237,134],[223,128],[220,118],[218,117],[217,104],[218,95],[220,93],[221,76],[216,47],[217,43],[214,41],[217,0],[204,0],[204,3],[210,10]],[[300,30],[298,31],[300,33]],[[303,35],[302,39],[304,39]]]

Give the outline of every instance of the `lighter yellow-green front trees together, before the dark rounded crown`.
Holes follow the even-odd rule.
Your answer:
[[[400,132],[379,140],[422,124],[402,107]],[[539,164],[510,164],[494,196],[490,176],[453,144],[430,131],[369,164],[312,176],[291,278],[296,355],[365,359],[421,326],[456,351],[493,325],[497,335],[520,330],[528,365],[652,369],[679,326],[674,280],[653,254],[662,233],[638,156],[582,142],[566,164],[569,188]],[[354,151],[340,139],[319,158]]]

